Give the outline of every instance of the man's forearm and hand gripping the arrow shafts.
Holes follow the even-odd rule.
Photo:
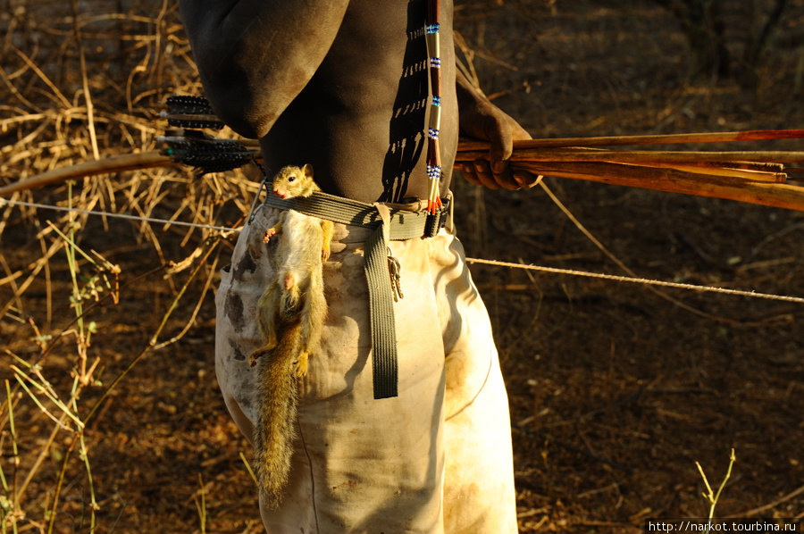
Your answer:
[[[511,172],[507,163],[514,151],[514,141],[530,139],[530,134],[507,113],[491,104],[460,70],[456,73],[456,92],[461,133],[490,142],[489,161],[465,164],[465,178],[491,189],[531,187],[538,177],[530,172]]]

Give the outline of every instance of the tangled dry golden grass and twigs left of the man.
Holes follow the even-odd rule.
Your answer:
[[[172,2],[6,4],[4,183],[151,150],[163,134],[157,117],[164,98],[200,93]],[[236,226],[254,191],[242,172],[199,179],[170,168],[83,179],[8,200]],[[91,452],[98,436],[88,429],[136,363],[197,326],[222,236],[25,205],[0,209],[0,530],[96,531],[103,523],[96,517]],[[150,259],[132,261],[132,252]],[[150,309],[137,303],[142,288],[159,296]],[[125,331],[110,317],[116,306],[148,318],[145,335],[120,351],[122,361],[108,350]],[[102,530],[113,526],[105,521]]]

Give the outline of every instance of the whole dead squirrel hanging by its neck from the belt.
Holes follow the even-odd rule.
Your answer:
[[[280,198],[311,196],[319,190],[310,165],[283,167],[273,178],[273,193]],[[251,354],[249,363],[262,361],[255,461],[257,479],[272,508],[280,505],[288,483],[296,438],[297,380],[307,373],[307,359],[318,348],[327,313],[322,262],[330,257],[332,230],[332,221],[287,210],[263,238],[268,243],[279,237],[276,271],[258,303],[265,345]]]

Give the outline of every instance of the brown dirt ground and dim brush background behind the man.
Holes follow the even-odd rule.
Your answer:
[[[55,121],[66,140],[42,141],[50,145],[38,152],[36,136],[49,130],[37,131],[31,123],[22,131],[12,121],[22,113],[46,117],[41,102],[79,106],[80,79],[71,78],[64,65],[46,69],[66,104],[46,97],[55,92],[14,50],[46,57],[45,38],[71,35],[69,17],[45,23],[41,10],[47,4],[5,4],[6,13],[17,14],[2,20],[8,63],[4,59],[0,102],[8,104],[0,106],[0,146],[16,152],[23,141],[31,146],[30,156],[16,159],[16,152],[3,151],[0,179],[11,182],[48,165],[88,159],[91,152],[70,137],[86,138],[86,112]],[[104,5],[116,13],[123,4]],[[729,4],[725,36],[735,68],[726,79],[692,76],[679,22],[649,0],[470,0],[459,4],[456,24],[465,61],[486,93],[534,137],[796,128],[804,123],[804,2],[789,2],[753,82],[737,59],[770,4]],[[94,50],[90,61],[103,57],[99,65],[121,71],[119,84],[96,88],[97,116],[129,125],[143,117],[136,124],[147,123],[155,113],[151,103],[172,91],[198,89],[197,80],[180,82],[176,74],[192,80],[174,7],[137,5],[148,21],[128,21],[142,25],[136,35],[151,38],[121,41],[116,53],[94,49],[113,29],[88,25],[84,41]],[[29,11],[20,15],[20,6]],[[759,11],[749,13],[750,6]],[[45,37],[37,56],[23,48],[31,41],[20,36],[39,34]],[[172,56],[154,54],[171,46]],[[67,48],[59,57],[76,60],[63,52]],[[127,50],[135,53],[122,54]],[[159,61],[143,59],[149,57]],[[132,93],[145,80],[148,88]],[[156,121],[120,129],[111,120],[99,124],[105,154],[120,152],[121,139],[152,145],[162,128]],[[26,138],[30,132],[36,136]],[[800,141],[769,146],[796,149]],[[79,189],[96,192],[101,200],[88,206],[94,209],[143,214],[137,206],[156,199],[147,204],[155,206],[151,216],[178,213],[189,221],[203,212],[205,221],[223,225],[237,224],[247,207],[248,201],[232,195],[240,175],[194,182],[188,171],[160,172],[107,178],[118,180],[108,187],[86,181]],[[255,172],[247,176],[253,179]],[[639,277],[804,296],[801,213],[568,179],[545,183]],[[66,198],[66,186],[20,197],[61,204]],[[490,191],[458,181],[456,199],[456,225],[473,258],[625,274],[540,187]],[[206,211],[199,208],[205,203]],[[13,365],[38,362],[54,389],[69,396],[80,370],[71,333],[79,329],[72,321],[75,284],[66,254],[47,254],[56,239],[46,226],[48,220],[63,225],[64,216],[20,206],[0,205],[0,211],[0,379],[8,380],[11,391],[17,384]],[[14,492],[33,472],[17,503],[21,532],[47,531],[54,512],[53,531],[60,533],[92,531],[93,521],[96,532],[121,534],[262,532],[255,485],[243,460],[250,452],[214,377],[214,272],[228,263],[232,239],[205,257],[157,342],[178,339],[138,358],[192,271],[165,279],[163,270],[155,270],[187,258],[205,234],[100,217],[81,221],[80,248],[121,268],[119,304],[102,299],[87,313],[96,330],[88,362],[97,361],[97,367],[73,401],[83,418],[102,399],[83,432],[91,474],[79,446],[71,449],[75,434],[54,432],[52,418],[17,388],[15,425],[9,424],[7,403],[0,412],[0,509],[11,513]],[[84,287],[94,271],[86,260],[80,264]],[[22,280],[38,266],[23,288]],[[16,271],[24,274],[12,278]],[[804,517],[804,305],[482,264],[472,272],[490,310],[510,396],[523,533],[636,533],[648,518],[705,517],[709,505],[696,462],[716,487],[732,449],[736,463],[717,516]],[[70,331],[42,357],[43,346],[65,329]],[[3,392],[0,399],[5,402]],[[57,412],[52,406],[50,411]],[[9,525],[2,531],[13,531]]]

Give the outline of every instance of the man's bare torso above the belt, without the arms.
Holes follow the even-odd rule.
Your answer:
[[[449,176],[457,142],[451,5],[441,17],[441,146]],[[352,0],[313,79],[262,140],[268,173],[312,163],[316,181],[336,195],[365,202],[426,198],[423,24],[423,0]]]

